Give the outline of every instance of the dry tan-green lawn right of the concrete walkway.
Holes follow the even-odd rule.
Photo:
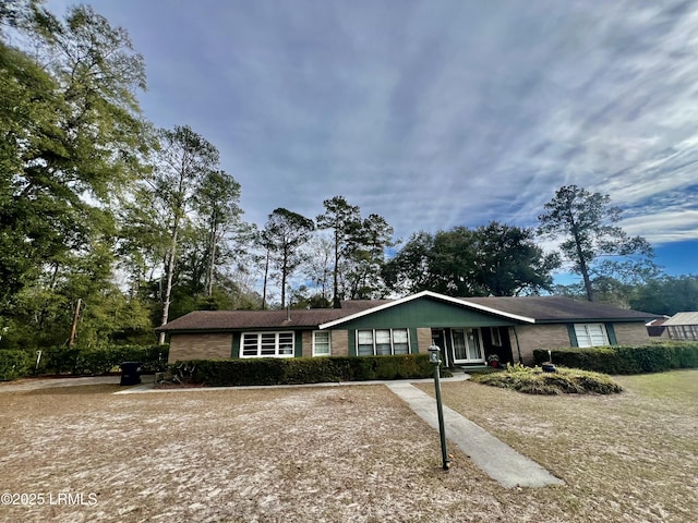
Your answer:
[[[696,521],[698,370],[614,379],[625,392],[541,397],[466,381],[443,398],[564,479],[547,499],[569,521]]]

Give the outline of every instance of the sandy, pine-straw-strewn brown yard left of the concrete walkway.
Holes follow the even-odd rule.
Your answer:
[[[0,386],[0,521],[604,520],[574,485],[506,489],[455,448],[443,471],[437,431],[382,385],[118,390]]]

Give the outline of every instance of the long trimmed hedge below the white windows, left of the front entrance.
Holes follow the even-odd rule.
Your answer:
[[[174,370],[182,362],[172,365]],[[429,378],[429,354],[196,360],[192,381],[210,387]],[[442,369],[442,373],[445,373]]]

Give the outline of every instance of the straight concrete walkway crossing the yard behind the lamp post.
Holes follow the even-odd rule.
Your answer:
[[[406,381],[386,384],[429,425],[438,430],[436,400]],[[564,485],[538,463],[519,454],[490,433],[444,405],[446,438],[456,443],[472,462],[500,485],[545,487]]]

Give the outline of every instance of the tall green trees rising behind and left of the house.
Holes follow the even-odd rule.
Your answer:
[[[140,108],[145,87],[127,32],[92,8],[60,19],[40,0],[0,3],[0,348],[148,344],[155,326],[193,309],[326,307],[422,289],[631,305],[646,285],[637,308],[658,312],[652,292],[676,283],[658,279],[647,242],[609,235],[598,217],[618,214],[607,197],[575,186],[539,229],[491,222],[402,244],[342,196],[317,217],[277,208],[248,223],[216,146],[184,124],[156,129]],[[597,222],[573,230],[561,218],[570,209]],[[550,254],[540,234],[568,240]],[[623,259],[595,263],[606,255]],[[552,287],[564,262],[581,289]]]

